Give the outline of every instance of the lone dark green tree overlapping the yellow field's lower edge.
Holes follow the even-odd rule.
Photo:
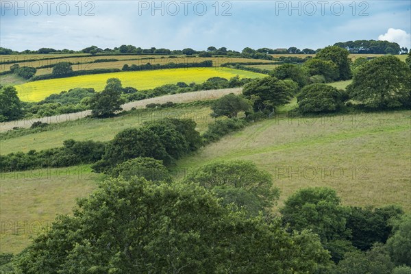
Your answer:
[[[117,78],[110,78],[102,92],[97,92],[90,99],[91,114],[95,117],[107,117],[114,112],[123,110],[121,104],[121,92],[123,87]]]

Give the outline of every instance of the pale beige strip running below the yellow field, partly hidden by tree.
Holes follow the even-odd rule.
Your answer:
[[[192,101],[201,101],[208,99],[218,99],[227,95],[229,93],[240,94],[242,88],[227,88],[222,90],[201,90],[193,91],[187,93],[179,93],[175,95],[164,95],[161,97],[149,98],[140,101],[134,101],[125,103],[121,107],[123,110],[131,110],[132,108],[145,108],[149,103],[188,103]],[[0,123],[0,132],[7,132],[8,130],[13,129],[13,127],[30,127],[32,123],[40,121],[42,123],[62,123],[65,121],[74,121],[77,119],[82,119],[91,114],[91,110],[84,110],[82,112],[73,112],[69,114],[60,114],[56,116],[47,116],[42,118],[35,119],[23,119],[17,121],[10,121]]]

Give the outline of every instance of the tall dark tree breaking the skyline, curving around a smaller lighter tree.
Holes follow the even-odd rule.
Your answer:
[[[349,59],[348,56],[349,51],[347,51],[347,49],[343,49],[342,47],[337,46],[325,47],[316,54],[316,58],[325,61],[332,61],[338,66],[338,80],[351,79],[351,59]]]

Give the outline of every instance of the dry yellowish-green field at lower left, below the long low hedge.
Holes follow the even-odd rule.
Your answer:
[[[18,253],[57,214],[71,214],[75,199],[97,187],[89,166],[0,173],[0,253]]]

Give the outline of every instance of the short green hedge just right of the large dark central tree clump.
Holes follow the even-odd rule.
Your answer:
[[[244,119],[238,118],[217,120],[208,125],[207,131],[203,134],[203,140],[205,143],[215,142],[227,134],[243,129],[247,123]]]

